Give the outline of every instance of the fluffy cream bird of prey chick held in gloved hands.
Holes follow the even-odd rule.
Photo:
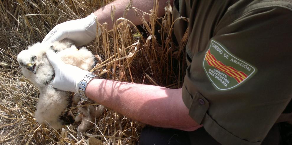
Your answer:
[[[47,59],[46,51],[52,49],[66,64],[91,70],[95,59],[86,48],[77,50],[69,40],[54,43],[36,43],[22,50],[17,61],[23,75],[28,78],[40,91],[40,97],[35,112],[36,121],[45,123],[54,129],[62,125],[74,123],[74,116],[68,108],[72,106],[71,92],[53,88],[50,82],[54,79],[55,71]]]

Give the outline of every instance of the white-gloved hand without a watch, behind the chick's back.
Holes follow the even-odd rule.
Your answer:
[[[52,43],[64,38],[76,43],[76,46],[84,45],[100,35],[100,30],[96,34],[95,15],[91,13],[83,19],[76,19],[56,25],[42,40],[42,42]]]

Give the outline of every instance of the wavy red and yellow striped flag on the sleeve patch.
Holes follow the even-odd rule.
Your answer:
[[[238,71],[231,66],[226,66],[222,62],[217,61],[214,55],[210,53],[210,50],[208,50],[208,52],[206,53],[205,60],[207,61],[209,66],[214,66],[216,69],[223,71],[228,76],[233,77],[238,83],[247,78],[247,75],[244,72]]]

